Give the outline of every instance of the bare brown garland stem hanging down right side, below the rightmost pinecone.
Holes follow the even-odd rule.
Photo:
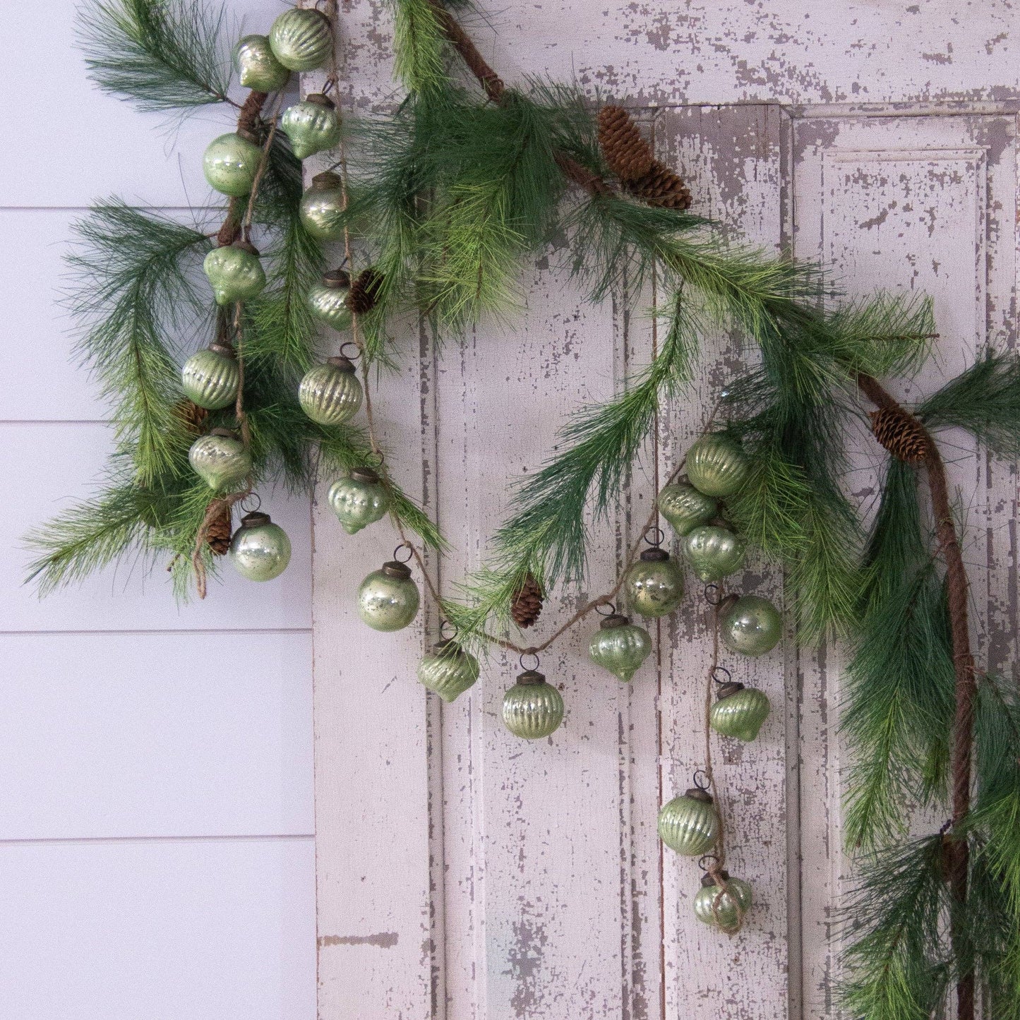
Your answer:
[[[862,393],[879,409],[912,417],[889,393],[870,375],[861,374],[857,385]],[[916,420],[916,419],[914,419]],[[938,550],[946,562],[946,589],[949,601],[950,630],[953,638],[953,667],[956,674],[956,713],[953,722],[953,823],[947,842],[950,886],[959,904],[967,902],[967,837],[963,823],[970,812],[971,758],[974,730],[974,701],[977,696],[977,678],[974,656],[970,648],[970,629],[967,622],[967,571],[953,519],[950,503],[946,464],[931,435],[923,429],[924,465],[928,477],[928,492],[935,517],[935,536]],[[956,940],[961,938],[957,932]],[[974,974],[961,975],[957,982],[957,1018],[974,1020]]]

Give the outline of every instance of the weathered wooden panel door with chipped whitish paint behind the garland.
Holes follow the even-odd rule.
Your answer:
[[[477,40],[508,81],[574,79],[640,111],[696,211],[732,237],[818,259],[845,292],[931,293],[942,340],[922,388],[986,343],[1015,343],[1020,91],[1006,0],[486,6]],[[355,0],[345,12],[345,73],[361,108],[393,95],[387,11]],[[533,471],[566,414],[622,387],[656,344],[643,314],[653,296],[592,306],[554,263],[528,271],[511,327],[447,338],[442,353],[427,333],[408,334],[404,368],[385,380],[377,413],[395,469],[456,550],[432,565],[444,588],[480,562],[507,479]],[[611,585],[660,471],[743,356],[727,338],[706,339],[698,385],[663,415],[615,526],[594,536],[589,590],[550,599],[543,626]],[[874,458],[861,436],[859,469],[844,481],[867,505]],[[954,480],[969,559],[986,565],[977,626],[997,664],[1016,652],[1016,492],[967,452]],[[658,655],[630,685],[596,675],[585,633],[555,646],[544,670],[567,720],[551,741],[522,745],[499,721],[516,662],[494,656],[469,696],[443,705],[414,682],[434,615],[395,635],[357,620],[356,585],[395,542],[343,536],[316,510],[322,1020],[834,1016],[832,912],[849,875],[839,650],[807,656],[789,643],[734,667],[777,710],[755,744],[715,748],[729,860],[758,898],[727,939],[694,919],[699,873],[655,832],[659,804],[704,757],[710,649],[698,600],[653,632]],[[742,583],[780,598],[768,563]]]

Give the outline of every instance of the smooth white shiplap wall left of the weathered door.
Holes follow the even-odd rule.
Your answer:
[[[235,9],[265,31],[279,4]],[[21,585],[20,536],[89,493],[111,442],[58,304],[69,224],[110,195],[205,203],[231,118],[169,130],[95,91],[72,0],[3,15],[0,1015],[311,1020],[307,503],[265,498],[284,577],[227,576],[202,605],[130,569],[42,602]]]

